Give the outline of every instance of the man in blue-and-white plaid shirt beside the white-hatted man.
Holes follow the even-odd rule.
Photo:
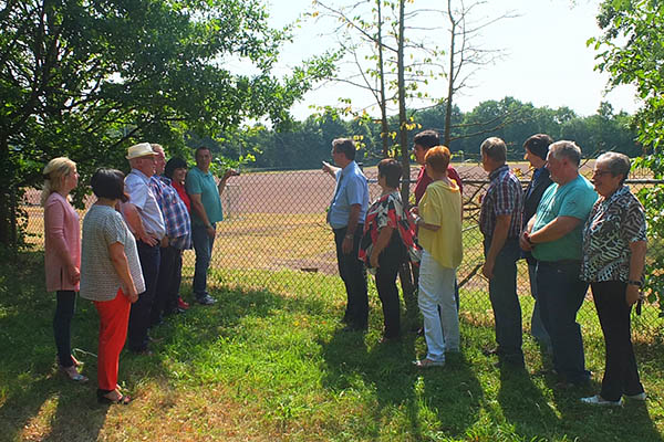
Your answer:
[[[162,262],[157,291],[151,312],[151,324],[155,326],[162,323],[162,315],[184,312],[177,306],[179,275],[176,271],[176,262],[181,251],[191,246],[191,219],[187,206],[170,185],[170,179],[162,175],[166,167],[164,149],[157,144],[151,146],[156,154],[156,173],[151,177],[149,187],[157,199],[166,224],[166,235],[160,244]]]

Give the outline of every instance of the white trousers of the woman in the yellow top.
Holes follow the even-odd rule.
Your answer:
[[[424,316],[426,357],[430,360],[444,361],[446,349],[459,349],[459,317],[454,299],[455,281],[456,269],[443,267],[430,253],[423,251],[417,303]]]

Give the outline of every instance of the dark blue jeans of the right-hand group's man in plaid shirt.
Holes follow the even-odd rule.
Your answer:
[[[491,238],[485,238],[485,256]],[[521,257],[519,240],[507,239],[496,256],[494,277],[489,280],[489,299],[496,320],[496,341],[499,356],[508,362],[523,365],[521,349],[521,305],[517,296],[517,261]]]

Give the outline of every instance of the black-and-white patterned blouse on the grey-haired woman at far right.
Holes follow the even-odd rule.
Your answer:
[[[581,278],[588,282],[630,278],[630,244],[645,241],[645,212],[623,186],[609,198],[600,198],[583,228]]]

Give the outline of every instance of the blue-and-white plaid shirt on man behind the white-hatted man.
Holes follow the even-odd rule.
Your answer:
[[[177,190],[170,185],[170,179],[155,175],[149,179],[149,187],[162,209],[166,235],[170,239],[169,245],[180,250],[189,249],[191,246],[191,219],[187,207],[177,194]]]

